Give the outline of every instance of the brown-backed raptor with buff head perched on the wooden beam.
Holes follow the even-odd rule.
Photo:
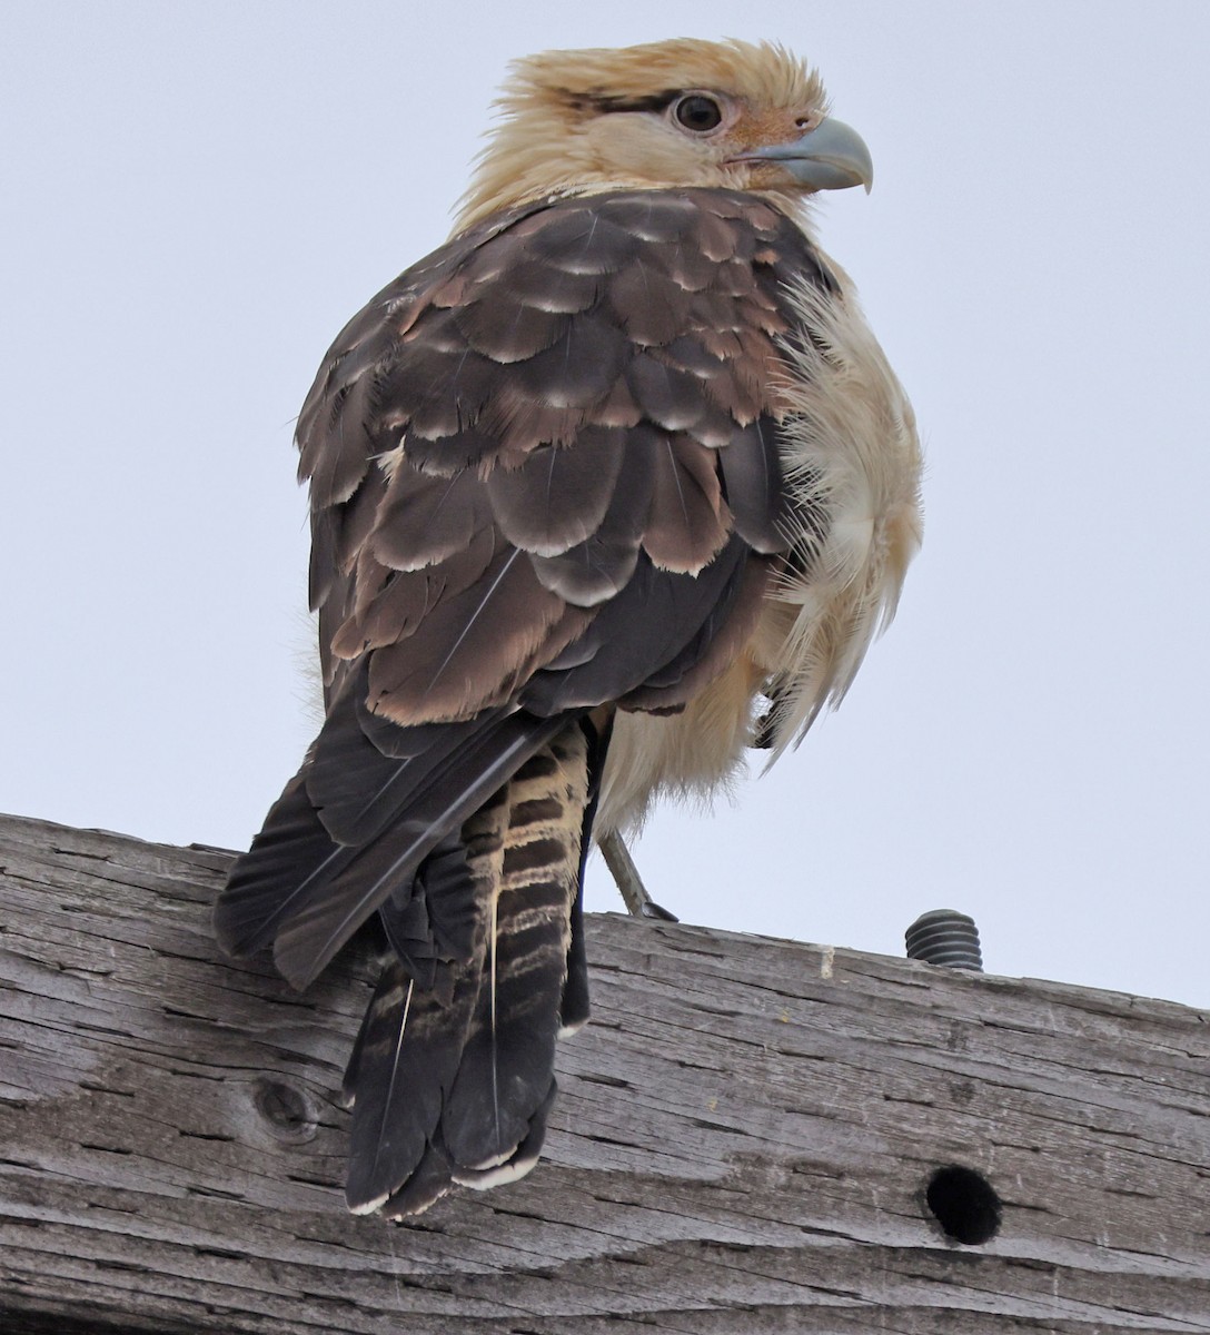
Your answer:
[[[870,151],[772,43],[515,61],[451,238],[297,419],[326,714],[215,906],[306,988],[382,975],[346,1197],[539,1157],[588,1017],[584,864],[843,698],[921,542],[909,400],[820,191]]]

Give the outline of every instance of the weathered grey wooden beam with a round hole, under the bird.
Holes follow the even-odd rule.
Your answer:
[[[221,960],[228,860],[0,820],[11,1335],[1210,1331],[1205,1013],[600,917],[543,1163],[395,1227],[340,1196],[368,961]]]

